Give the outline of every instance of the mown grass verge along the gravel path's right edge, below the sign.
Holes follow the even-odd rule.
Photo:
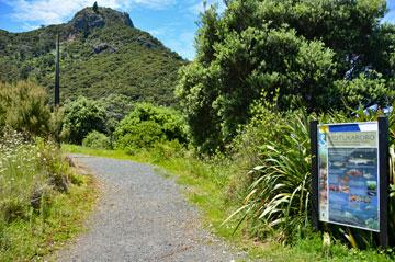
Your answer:
[[[360,251],[349,249],[342,243],[332,242],[323,246],[318,233],[309,233],[293,246],[281,246],[275,239],[258,242],[248,239],[242,230],[234,235],[235,221],[222,225],[239,203],[229,201],[228,183],[232,178],[233,163],[227,159],[200,160],[188,152],[172,150],[166,146],[154,150],[140,150],[134,156],[123,151],[99,150],[79,146],[64,145],[63,150],[72,153],[84,153],[99,157],[134,160],[160,167],[160,173],[176,176],[179,184],[185,185],[189,201],[199,206],[204,214],[204,223],[211,231],[247,251],[253,259],[269,261],[392,261],[391,258],[374,250]],[[237,180],[236,180],[237,181]],[[237,198],[237,197],[236,197]],[[242,225],[241,225],[242,228]]]

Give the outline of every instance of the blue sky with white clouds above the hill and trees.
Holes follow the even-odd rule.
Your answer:
[[[0,0],[0,29],[24,32],[69,21],[94,0]],[[224,9],[222,0],[208,0]],[[128,12],[136,27],[151,33],[188,59],[194,57],[194,34],[203,0],[98,0],[99,5]],[[385,21],[395,23],[395,0],[387,0]]]

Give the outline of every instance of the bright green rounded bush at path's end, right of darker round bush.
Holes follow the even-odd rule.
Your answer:
[[[136,104],[121,121],[114,134],[116,147],[131,152],[166,140],[187,143],[187,126],[182,115],[176,110],[149,103]]]

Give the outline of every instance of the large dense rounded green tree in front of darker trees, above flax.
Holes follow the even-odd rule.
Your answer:
[[[332,58],[321,42],[306,41],[293,30],[267,25],[229,33],[216,43],[208,67],[198,59],[181,70],[177,94],[195,144],[206,150],[228,143],[262,91],[270,99],[280,88],[283,109],[302,104],[313,111],[330,101]]]

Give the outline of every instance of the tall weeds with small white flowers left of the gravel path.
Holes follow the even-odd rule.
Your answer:
[[[7,132],[0,144],[0,157],[1,223],[29,219],[31,212],[46,210],[53,194],[67,192],[68,166],[55,145],[43,140],[32,145],[20,134]],[[0,247],[4,247],[1,240]]]

